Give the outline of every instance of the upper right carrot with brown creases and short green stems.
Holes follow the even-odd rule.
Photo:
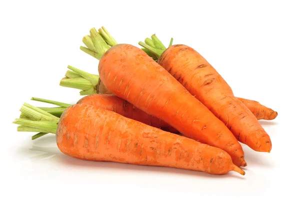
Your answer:
[[[158,48],[143,42],[139,44],[155,53],[157,62],[223,121],[236,139],[253,150],[270,152],[272,145],[269,135],[205,58],[187,45],[162,48],[155,35],[152,35],[152,40],[159,44]]]

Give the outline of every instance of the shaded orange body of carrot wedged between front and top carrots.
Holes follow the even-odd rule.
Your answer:
[[[142,123],[151,125],[153,127],[160,128],[169,132],[177,132],[177,130],[171,127],[166,122],[156,118],[144,111],[136,108],[128,101],[119,98],[115,94],[91,94],[86,95],[79,99],[77,103],[91,104],[103,109],[114,111],[122,116],[131,118]]]

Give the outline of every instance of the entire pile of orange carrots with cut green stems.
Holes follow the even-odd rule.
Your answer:
[[[80,49],[98,59],[98,73],[68,66],[60,85],[80,89],[75,104],[24,103],[17,131],[56,135],[58,149],[74,158],[155,165],[224,174],[247,165],[240,143],[270,152],[259,119],[277,112],[236,97],[215,68],[184,44],[167,47],[152,35],[142,48],[117,43],[91,28]]]

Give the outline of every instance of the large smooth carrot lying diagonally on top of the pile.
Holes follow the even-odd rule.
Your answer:
[[[94,28],[90,33],[93,43],[102,42]],[[242,147],[229,129],[144,51],[116,44],[96,52],[102,52],[98,72],[110,91],[182,135],[223,149],[234,164],[246,165]]]

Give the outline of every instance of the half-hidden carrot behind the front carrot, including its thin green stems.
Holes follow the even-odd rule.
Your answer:
[[[57,101],[47,100],[47,99],[37,98],[37,97],[32,97],[31,100],[46,102],[46,103],[55,104],[55,105],[60,106],[60,107],[54,107],[54,108],[41,107],[42,110],[48,111],[49,113],[55,113],[56,116],[58,116],[58,117],[60,117],[60,115],[62,114],[62,112],[64,111],[64,109],[66,107],[71,106],[71,104],[66,104],[66,103],[62,103],[62,102],[57,102]],[[166,131],[173,132],[173,133],[178,132],[175,128],[171,127],[166,122],[164,122],[150,114],[143,112],[142,110],[136,108],[131,103],[119,98],[118,96],[116,96],[114,94],[86,95],[86,96],[80,98],[77,101],[77,103],[94,105],[94,106],[97,106],[102,109],[114,111],[122,116],[127,117],[127,118],[131,118],[131,119],[140,121],[142,123],[151,125],[153,127],[160,128],[162,130],[166,130]],[[60,112],[60,115],[58,115],[59,112]],[[21,113],[21,116],[24,116],[24,114]]]

